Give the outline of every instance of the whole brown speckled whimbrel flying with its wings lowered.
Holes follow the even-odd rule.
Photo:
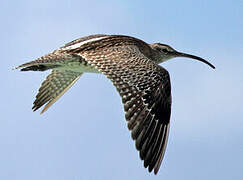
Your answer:
[[[168,140],[171,114],[169,73],[158,64],[175,57],[208,61],[166,44],[147,44],[123,35],[91,35],[18,67],[21,71],[52,69],[42,83],[33,110],[46,111],[84,72],[103,73],[119,92],[128,129],[144,167],[157,174]]]

